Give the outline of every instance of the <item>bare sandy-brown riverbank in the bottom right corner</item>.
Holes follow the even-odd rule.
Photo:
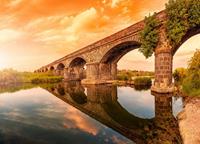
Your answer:
[[[200,143],[200,98],[185,97],[184,110],[178,115],[179,130],[184,144]]]

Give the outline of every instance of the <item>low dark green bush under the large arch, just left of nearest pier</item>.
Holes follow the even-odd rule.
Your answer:
[[[134,85],[136,86],[151,86],[151,78],[149,77],[138,77],[134,79]]]

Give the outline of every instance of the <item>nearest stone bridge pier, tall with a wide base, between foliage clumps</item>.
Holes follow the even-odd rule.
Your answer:
[[[155,81],[151,90],[157,93],[172,93],[172,46],[167,38],[165,26],[159,28],[159,42],[155,49]]]

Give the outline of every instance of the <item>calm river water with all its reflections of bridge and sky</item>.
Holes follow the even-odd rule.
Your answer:
[[[182,143],[182,108],[181,97],[129,86],[0,87],[0,143]]]

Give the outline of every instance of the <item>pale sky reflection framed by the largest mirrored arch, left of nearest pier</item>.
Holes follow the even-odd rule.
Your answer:
[[[131,87],[118,87],[118,101],[131,114],[140,118],[155,116],[154,96],[150,91],[136,91]]]

